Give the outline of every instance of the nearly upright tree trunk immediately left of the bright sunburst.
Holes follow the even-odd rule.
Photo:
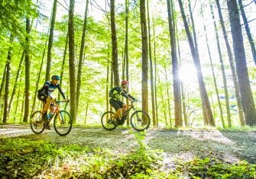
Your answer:
[[[170,7],[171,6],[171,7]],[[173,1],[167,0],[168,20],[169,20],[169,34],[170,34],[170,47],[173,65],[173,96],[174,96],[174,114],[175,126],[183,126],[182,111],[181,111],[181,98],[180,98],[180,78],[179,78],[179,64],[177,59],[177,44],[176,44],[176,29],[175,19],[173,16]]]

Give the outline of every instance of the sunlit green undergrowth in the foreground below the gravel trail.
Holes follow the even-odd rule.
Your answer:
[[[57,145],[42,139],[0,139],[0,178],[255,178],[256,165],[215,158],[182,161],[144,142],[134,133],[131,152]]]

